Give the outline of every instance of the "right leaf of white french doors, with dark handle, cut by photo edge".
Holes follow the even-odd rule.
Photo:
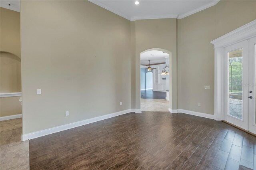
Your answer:
[[[249,131],[256,134],[256,38],[249,40]]]

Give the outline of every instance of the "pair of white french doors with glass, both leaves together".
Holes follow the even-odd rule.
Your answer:
[[[256,38],[224,48],[225,121],[256,134]]]

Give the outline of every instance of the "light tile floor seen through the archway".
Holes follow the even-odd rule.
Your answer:
[[[140,99],[141,111],[168,112],[169,101],[166,99]]]

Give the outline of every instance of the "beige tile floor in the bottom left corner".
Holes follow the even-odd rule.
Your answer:
[[[29,142],[21,141],[22,119],[0,122],[0,169],[28,170]]]

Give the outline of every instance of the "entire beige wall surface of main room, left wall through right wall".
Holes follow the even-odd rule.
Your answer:
[[[88,1],[21,1],[23,134],[140,109],[140,53],[152,48],[172,53],[170,108],[213,114],[210,41],[254,20],[254,7],[220,1],[179,20],[130,22]]]

